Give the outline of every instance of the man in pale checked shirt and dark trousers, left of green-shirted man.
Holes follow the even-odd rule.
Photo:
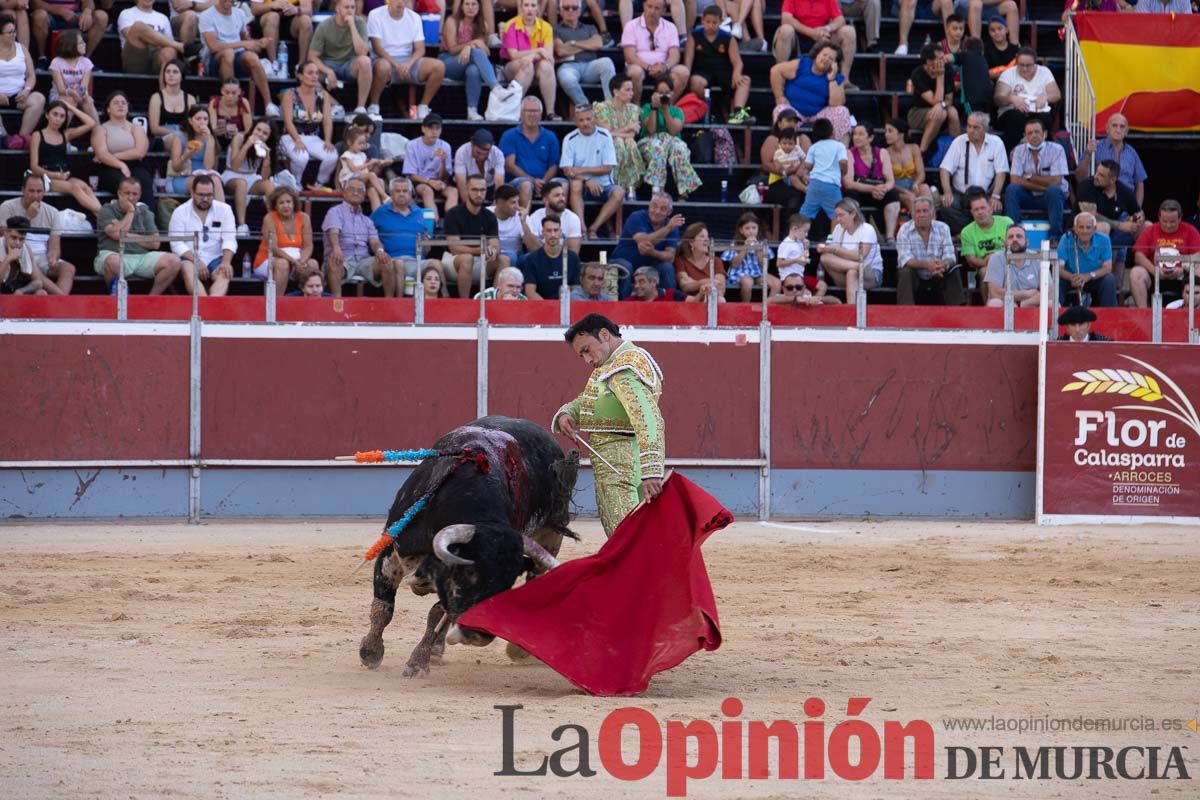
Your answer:
[[[961,306],[962,281],[954,263],[950,228],[934,219],[934,200],[913,200],[912,219],[896,234],[896,266],[900,283],[896,302],[901,306]]]

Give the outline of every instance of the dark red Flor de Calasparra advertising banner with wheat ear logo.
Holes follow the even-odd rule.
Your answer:
[[[1039,521],[1200,524],[1198,401],[1194,345],[1048,343]]]

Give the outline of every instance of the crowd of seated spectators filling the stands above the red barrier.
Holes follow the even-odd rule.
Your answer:
[[[1123,116],[1078,163],[1055,136],[1062,89],[1020,41],[1014,0],[899,0],[898,55],[917,18],[942,19],[943,35],[919,48],[907,110],[878,132],[847,97],[860,91],[856,55],[880,47],[880,0],[784,0],[769,37],[763,0],[620,0],[618,37],[599,0],[5,5],[0,108],[20,112],[5,146],[28,151],[20,197],[0,205],[5,293],[72,290],[77,266],[47,194],[89,217],[97,275],[114,290],[122,275],[142,278],[151,293],[224,294],[241,237],[258,242],[242,277],[306,296],[359,282],[384,296],[472,297],[485,284],[486,299],[536,300],[566,285],[577,300],[817,306],[839,302],[834,288],[853,301],[882,285],[894,248],[901,303],[961,305],[973,289],[986,305],[1032,306],[1037,264],[1021,253],[1049,239],[1060,302],[1146,306],[1156,273],[1186,291],[1184,267],[1164,254],[1200,252],[1178,200],[1144,209],[1150,179]],[[440,20],[437,41],[422,14]],[[94,97],[91,59],[110,24],[121,68],[157,78],[144,118],[124,91]],[[748,203],[778,206],[785,224],[772,241],[767,216],[745,211],[719,242],[676,203],[702,186],[695,126],[756,121],[750,54],[774,58],[758,86],[774,107]],[[190,92],[196,74],[218,78],[220,94]],[[454,119],[511,127],[448,140],[446,80],[466,86]],[[384,150],[384,98],[408,85],[415,102],[400,115],[420,136]],[[574,130],[560,137],[547,122],[563,115]],[[72,174],[71,156],[88,151],[91,169]],[[304,210],[313,192],[340,200],[319,239]],[[624,207],[638,192],[648,205]],[[265,210],[254,230],[253,204]],[[163,230],[198,243],[161,245]],[[422,243],[443,236],[445,247]],[[605,263],[584,261],[588,240],[617,243]]]

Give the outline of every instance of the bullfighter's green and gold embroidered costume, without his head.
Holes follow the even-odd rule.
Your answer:
[[[596,507],[606,536],[642,501],[642,479],[662,477],[665,445],[662,371],[650,354],[632,342],[622,342],[608,360],[592,371],[583,393],[554,414],[570,415],[588,443],[613,467],[593,459]]]

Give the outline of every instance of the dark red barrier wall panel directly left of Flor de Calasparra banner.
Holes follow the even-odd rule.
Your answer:
[[[772,465],[1032,470],[1033,347],[772,348]]]

